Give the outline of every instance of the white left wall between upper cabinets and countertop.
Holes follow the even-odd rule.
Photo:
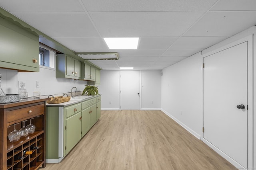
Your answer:
[[[28,97],[33,96],[33,92],[41,92],[41,95],[62,94],[71,92],[71,88],[76,86],[78,91],[84,90],[87,81],[78,80],[72,82],[68,78],[56,78],[55,70],[40,68],[40,72],[18,72],[0,68],[1,86],[6,94],[18,93],[18,81],[25,83]],[[36,88],[36,81],[40,87]]]

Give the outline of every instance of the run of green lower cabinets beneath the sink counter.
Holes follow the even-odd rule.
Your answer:
[[[70,106],[47,106],[46,163],[63,160],[100,118],[100,110],[100,96]]]

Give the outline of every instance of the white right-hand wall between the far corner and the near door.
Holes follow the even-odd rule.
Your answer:
[[[197,53],[162,70],[162,111],[200,139],[202,57]]]

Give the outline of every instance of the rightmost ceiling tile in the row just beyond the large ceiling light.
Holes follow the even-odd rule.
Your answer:
[[[168,49],[164,52],[162,57],[189,57],[202,50],[203,49]]]

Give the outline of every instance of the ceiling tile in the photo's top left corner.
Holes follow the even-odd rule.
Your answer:
[[[77,0],[0,0],[9,12],[84,12]]]

